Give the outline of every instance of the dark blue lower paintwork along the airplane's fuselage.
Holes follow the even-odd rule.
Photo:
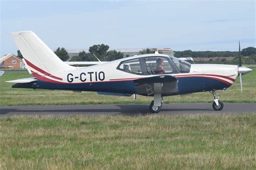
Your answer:
[[[196,93],[201,91],[220,90],[227,88],[228,85],[224,82],[208,79],[206,77],[177,77],[178,93]],[[23,84],[20,84],[23,86]],[[19,88],[19,87],[18,87]],[[27,87],[28,88],[28,87]],[[50,83],[37,80],[35,89],[56,89],[56,90],[79,90],[79,91],[105,91],[111,93],[127,93],[138,94],[133,80],[131,81],[113,81],[113,82],[97,82],[97,83]]]

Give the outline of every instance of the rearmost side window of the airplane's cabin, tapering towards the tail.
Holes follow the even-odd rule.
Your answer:
[[[120,63],[118,69],[133,74],[142,74],[139,59],[127,60]]]

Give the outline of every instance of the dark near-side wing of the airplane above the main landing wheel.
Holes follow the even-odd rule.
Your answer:
[[[162,96],[178,93],[178,79],[171,75],[158,75],[134,80],[139,95],[153,96],[160,93]]]

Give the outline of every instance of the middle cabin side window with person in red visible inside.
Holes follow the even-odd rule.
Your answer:
[[[147,74],[170,74],[173,72],[169,61],[164,57],[145,58]]]

